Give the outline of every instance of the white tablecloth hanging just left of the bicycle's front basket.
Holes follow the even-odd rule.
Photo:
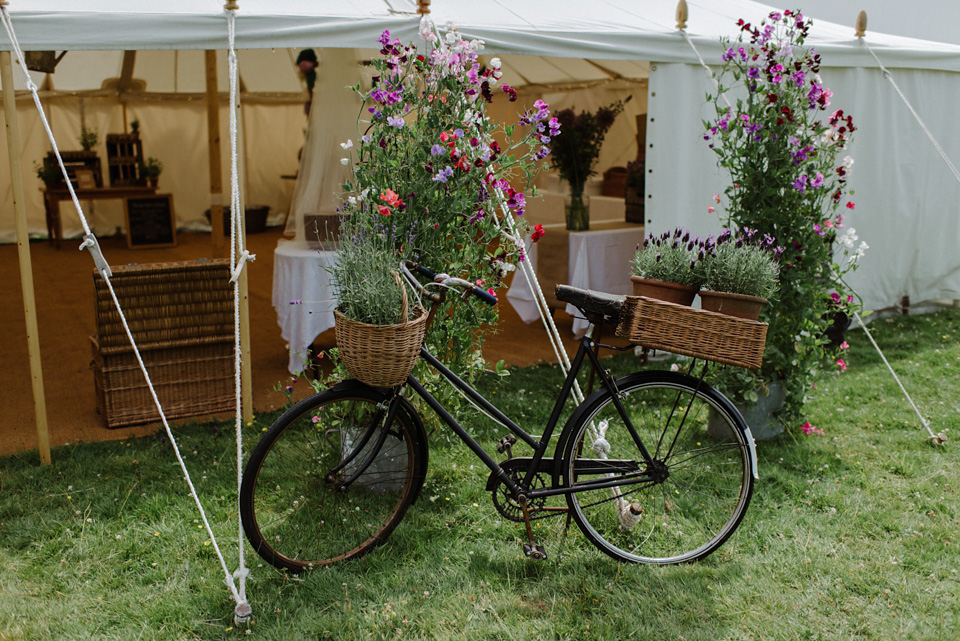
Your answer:
[[[273,307],[280,335],[289,344],[291,374],[304,369],[307,350],[317,336],[333,327],[336,292],[326,267],[335,252],[281,240],[273,250]]]

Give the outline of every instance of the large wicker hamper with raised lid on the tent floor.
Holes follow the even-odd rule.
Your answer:
[[[227,260],[128,265],[110,279],[167,418],[232,411],[233,290]],[[146,379],[94,272],[97,411],[107,427],[158,421]]]

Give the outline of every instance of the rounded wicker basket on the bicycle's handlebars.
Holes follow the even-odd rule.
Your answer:
[[[427,333],[427,310],[397,325],[370,325],[333,311],[337,347],[347,371],[371,387],[395,387],[407,380]]]

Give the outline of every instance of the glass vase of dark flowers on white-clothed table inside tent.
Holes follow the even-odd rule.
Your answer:
[[[590,228],[590,212],[583,201],[583,190],[587,179],[597,173],[593,165],[600,157],[604,136],[631,97],[600,107],[596,113],[577,114],[573,109],[562,109],[556,114],[560,133],[551,143],[550,166],[570,186],[567,229]]]

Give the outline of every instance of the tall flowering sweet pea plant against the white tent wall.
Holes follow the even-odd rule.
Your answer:
[[[756,26],[737,24],[738,39],[723,41],[718,91],[708,96],[716,119],[704,123],[704,139],[730,172],[725,224],[776,238],[783,255],[779,296],[761,317],[770,323],[763,367],[721,384],[756,400],[758,389],[779,381],[786,392],[780,418],[791,424],[816,371],[834,362],[824,338],[831,301],[852,305],[843,275],[866,249],[844,222],[855,206],[845,150],[856,128],[849,114],[829,109],[820,55],[804,47],[810,20],[786,10]]]

